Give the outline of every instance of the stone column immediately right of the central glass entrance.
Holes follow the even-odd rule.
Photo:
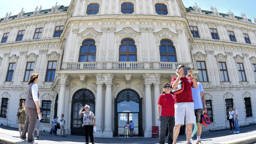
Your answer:
[[[151,100],[151,83],[145,83],[145,133],[144,137],[152,137],[152,100]]]

